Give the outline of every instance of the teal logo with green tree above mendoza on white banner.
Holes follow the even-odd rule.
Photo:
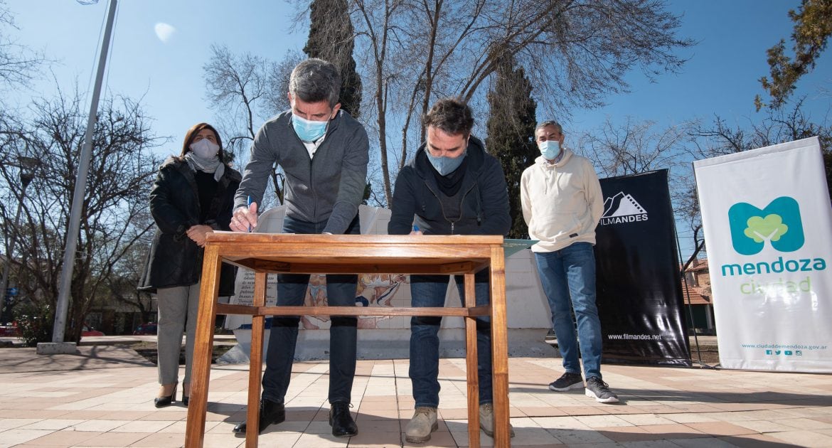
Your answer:
[[[800,206],[792,197],[778,197],[763,209],[737,202],[728,209],[728,222],[734,250],[742,255],[760,253],[766,242],[781,252],[805,242]]]

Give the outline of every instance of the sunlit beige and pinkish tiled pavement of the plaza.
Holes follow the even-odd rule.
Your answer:
[[[182,446],[186,408],[157,410],[156,368],[129,349],[82,355],[0,349],[0,448]],[[407,360],[359,361],[353,396],[359,436],[330,436],[327,362],[297,362],[287,419],[260,446],[402,445],[412,415]],[[602,405],[583,390],[552,392],[559,359],[509,361],[513,446],[832,446],[832,375],[604,365],[622,398]],[[247,366],[213,366],[205,446],[244,446]],[[442,360],[439,431],[418,446],[468,446],[463,359]],[[482,435],[483,446],[492,440]]]

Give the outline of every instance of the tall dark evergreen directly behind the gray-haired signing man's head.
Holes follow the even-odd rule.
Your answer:
[[[304,52],[338,67],[341,72],[341,110],[357,118],[361,107],[361,77],[355,71],[353,47],[354,29],[347,1],[312,0],[310,36]]]

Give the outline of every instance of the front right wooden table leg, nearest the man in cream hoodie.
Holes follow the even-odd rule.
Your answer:
[[[502,247],[491,249],[491,362],[494,398],[494,446],[511,446],[508,414],[508,319]]]

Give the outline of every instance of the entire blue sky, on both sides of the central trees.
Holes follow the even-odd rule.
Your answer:
[[[769,71],[765,50],[790,36],[787,12],[799,5],[797,0],[669,2],[671,12],[683,14],[679,36],[698,42],[681,52],[690,59],[681,72],[661,75],[655,82],[631,72],[631,92],[608,97],[606,107],[572,111],[572,119],[563,121],[567,135],[591,131],[607,117],[614,123],[632,117],[661,126],[694,118],[709,121],[715,114],[729,125],[759,120],[762,114],[755,112],[753,100],[762,93],[757,80]],[[71,91],[76,79],[83,92],[92,89],[106,0],[90,6],[72,0],[7,0],[7,6],[20,28],[13,37],[57,60],[52,73],[64,91]],[[287,50],[300,50],[306,40],[305,28],[291,30],[294,16],[294,9],[280,0],[121,0],[106,88],[143,97],[146,112],[156,119],[156,135],[173,137],[157,151],[178,152],[188,127],[214,121],[202,80],[210,44],[280,60]],[[157,28],[168,32],[156,32]],[[12,92],[12,102],[25,104],[31,97],[52,95],[52,73],[42,73],[30,90]],[[806,110],[816,122],[832,118],[832,50],[827,49],[814,72],[800,79],[795,96],[804,94]],[[88,107],[87,103],[85,112]],[[537,111],[539,120],[562,120],[552,115]]]

